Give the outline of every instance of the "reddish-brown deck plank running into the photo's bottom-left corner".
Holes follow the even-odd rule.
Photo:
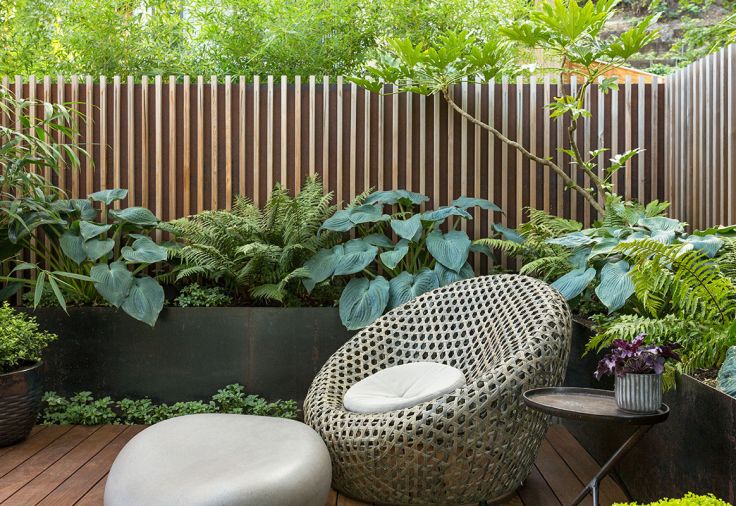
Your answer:
[[[53,444],[48,445],[0,478],[0,502],[6,501],[98,429],[98,426],[77,425],[72,427]]]

